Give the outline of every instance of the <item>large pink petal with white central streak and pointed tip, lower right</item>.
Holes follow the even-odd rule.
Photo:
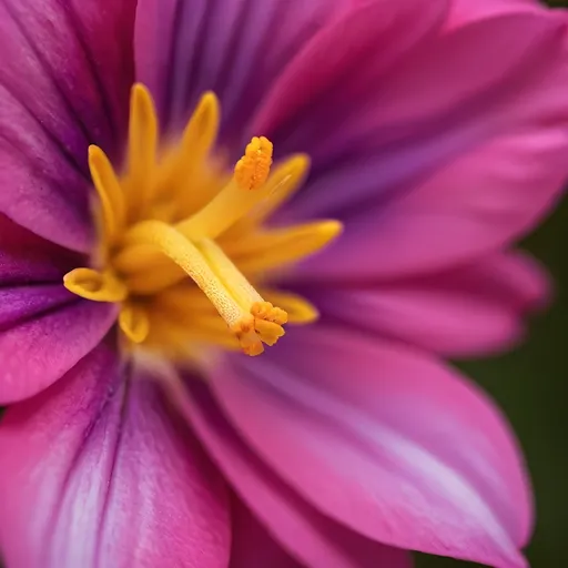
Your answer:
[[[520,568],[525,471],[503,417],[427,355],[323,326],[212,376],[246,442],[321,511],[400,548]]]

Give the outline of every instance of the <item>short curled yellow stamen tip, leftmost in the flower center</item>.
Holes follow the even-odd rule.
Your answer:
[[[128,296],[126,286],[111,272],[75,268],[63,277],[69,292],[94,302],[122,302]]]

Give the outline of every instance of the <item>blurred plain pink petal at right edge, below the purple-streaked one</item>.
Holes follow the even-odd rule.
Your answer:
[[[568,129],[556,126],[494,141],[438,171],[407,199],[349,217],[342,239],[298,275],[410,276],[506,247],[560,196],[567,151]]]

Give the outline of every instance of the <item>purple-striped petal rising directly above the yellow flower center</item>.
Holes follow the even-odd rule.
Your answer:
[[[223,138],[245,124],[282,68],[351,0],[140,0],[138,79],[163,122],[180,130],[206,90],[223,109]]]

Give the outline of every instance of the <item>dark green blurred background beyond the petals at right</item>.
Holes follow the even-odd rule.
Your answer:
[[[471,0],[476,1],[476,0]],[[568,7],[568,0],[550,0]],[[568,104],[568,85],[566,85]],[[568,155],[566,156],[568,160]],[[513,423],[525,449],[537,499],[532,568],[568,567],[568,202],[524,246],[556,281],[556,302],[531,326],[515,353],[459,365],[490,393]],[[460,568],[467,562],[419,556],[418,568]]]

